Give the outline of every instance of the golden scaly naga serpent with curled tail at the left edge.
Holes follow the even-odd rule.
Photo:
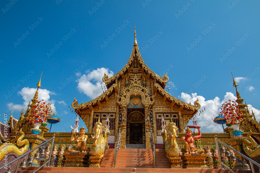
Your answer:
[[[20,134],[22,135],[17,139],[16,145],[12,143],[6,143],[0,146],[0,161],[5,157],[5,155],[9,153],[14,153],[17,156],[21,156],[28,150],[29,141],[28,139],[22,140],[24,137],[24,132],[22,132],[22,129],[20,129]]]

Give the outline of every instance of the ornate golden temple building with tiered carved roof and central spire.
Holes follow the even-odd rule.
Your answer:
[[[164,90],[168,80],[167,73],[160,77],[145,64],[134,31],[134,45],[126,65],[110,78],[104,74],[103,82],[107,90],[80,105],[74,99],[72,108],[83,119],[88,132],[93,132],[98,119],[105,125],[108,116],[108,143],[114,143],[121,128],[121,148],[127,144],[146,144],[146,148],[149,148],[149,129],[152,130],[155,142],[163,143],[163,117],[166,125],[172,119],[177,124],[178,132],[184,133],[188,122],[200,108],[198,100],[192,105],[168,94]]]

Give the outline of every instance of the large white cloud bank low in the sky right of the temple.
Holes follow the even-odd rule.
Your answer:
[[[192,95],[181,93],[179,98],[186,103],[194,103],[198,98],[201,108],[205,107],[205,110],[196,118],[198,120],[197,124],[201,127],[203,133],[223,133],[222,125],[214,123],[211,117],[218,116],[218,111],[225,101],[237,99],[231,92],[227,92],[222,101],[218,97],[215,97],[213,100],[205,100],[203,96],[197,95],[197,93],[192,93]],[[253,108],[253,111],[256,118],[259,119],[260,110]],[[192,123],[192,120],[190,122]],[[226,128],[225,124],[224,128]]]

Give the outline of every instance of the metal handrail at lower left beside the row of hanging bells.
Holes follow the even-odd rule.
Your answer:
[[[50,153],[51,153],[51,152],[52,152],[52,148],[53,148],[54,138],[55,138],[55,134],[53,135],[53,138],[51,138],[51,139],[49,139],[48,141],[46,141],[46,142],[40,144],[39,146],[35,147],[34,149],[32,149],[32,150],[30,150],[30,151],[27,151],[27,152],[24,153],[23,155],[17,157],[16,159],[12,160],[11,162],[7,163],[7,165],[9,165],[9,164],[11,164],[11,163],[13,163],[13,162],[15,162],[15,161],[18,160],[18,161],[17,161],[17,164],[16,164],[16,168],[15,168],[15,173],[16,173],[17,170],[18,170],[18,166],[19,166],[18,164],[20,163],[20,160],[21,160],[22,157],[26,156],[27,154],[31,153],[32,151],[38,149],[39,147],[43,146],[44,144],[46,144],[46,143],[48,143],[49,141],[52,140],[51,150],[50,150]],[[50,167],[50,159],[51,159],[51,157],[49,156],[49,160],[45,163],[45,164],[48,163],[48,167]],[[41,165],[36,171],[38,171],[40,168],[42,168],[45,164]],[[1,170],[2,168],[6,167],[7,165],[3,165],[2,167],[0,167],[0,170]],[[36,171],[34,171],[33,173],[35,173]]]

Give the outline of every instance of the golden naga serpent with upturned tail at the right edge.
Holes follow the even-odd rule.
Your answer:
[[[251,134],[252,131],[250,129],[250,132],[247,134],[249,140],[244,140],[242,145],[245,153],[253,158],[260,155],[260,145],[257,145],[256,141],[250,136]]]

